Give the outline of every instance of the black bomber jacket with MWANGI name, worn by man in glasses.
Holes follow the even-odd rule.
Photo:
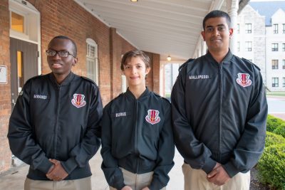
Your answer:
[[[9,121],[11,152],[30,165],[29,179],[46,177],[51,162],[61,161],[66,179],[91,175],[88,161],[100,147],[103,105],[98,86],[70,73],[61,85],[53,74],[29,79]]]

